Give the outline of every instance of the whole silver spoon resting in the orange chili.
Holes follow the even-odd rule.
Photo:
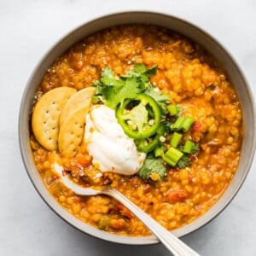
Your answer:
[[[59,165],[55,165],[55,172],[57,172],[61,178],[61,182],[64,183],[68,189],[73,190],[76,195],[108,195],[121,202],[127,207],[134,215],[139,218],[143,224],[145,224],[149,230],[157,236],[163,245],[174,255],[174,256],[200,256],[195,251],[183,243],[177,236],[166,230],[158,222],[151,218],[146,212],[140,207],[137,207],[131,202],[125,195],[121,194],[117,189],[113,189],[110,186],[102,186],[101,190],[82,188],[76,183],[73,183],[67,175],[64,175],[63,168]]]

